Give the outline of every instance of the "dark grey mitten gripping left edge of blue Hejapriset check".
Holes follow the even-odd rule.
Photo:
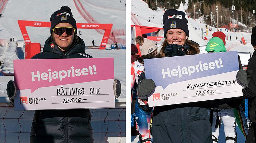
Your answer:
[[[137,95],[140,99],[148,99],[148,95],[152,95],[155,91],[155,82],[151,79],[143,79],[137,87]]]

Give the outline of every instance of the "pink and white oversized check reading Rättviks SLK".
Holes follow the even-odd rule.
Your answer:
[[[14,60],[15,110],[114,108],[114,59]]]

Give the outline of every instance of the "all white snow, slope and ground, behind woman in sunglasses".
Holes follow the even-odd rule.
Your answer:
[[[100,0],[80,0],[86,11],[90,12],[95,20],[100,23],[113,23],[113,29],[125,29],[125,3],[111,0],[102,2]],[[78,0],[75,1],[78,3]],[[33,20],[49,22],[50,16],[61,6],[67,5],[72,10],[73,17],[77,23],[88,23],[78,12],[75,7],[74,1],[70,0],[55,0],[55,1],[19,1],[9,0],[3,10],[0,18],[0,39],[14,38],[15,42],[24,42],[17,20]],[[117,8],[115,10],[115,8]],[[106,18],[107,17],[107,18]],[[32,42],[38,42],[44,45],[45,40],[50,35],[49,28],[43,27],[26,27],[27,32]],[[86,46],[91,46],[92,40],[95,41],[95,45],[100,45],[102,40],[101,34],[93,29],[81,29],[82,35],[80,37],[85,41]],[[13,42],[11,42],[13,43]],[[15,44],[15,43],[13,43]],[[0,50],[0,55],[5,52],[3,47]],[[24,52],[24,48],[22,48]],[[9,49],[10,51],[10,49]],[[4,68],[10,68],[13,66],[9,63],[10,60],[19,59],[15,55],[15,49],[12,52],[6,52],[8,56],[5,58],[6,63]],[[125,50],[98,50],[98,49],[86,49],[86,53],[93,57],[114,57],[115,78],[119,79],[122,84],[121,97],[125,97]],[[4,55],[4,54],[3,54]],[[10,71],[11,72],[11,71]],[[1,83],[3,84],[3,83]],[[0,86],[0,92],[4,92],[5,87]]]

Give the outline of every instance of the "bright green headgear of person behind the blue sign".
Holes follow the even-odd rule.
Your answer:
[[[226,50],[226,47],[225,47],[223,41],[219,37],[213,37],[207,43],[205,51],[207,51],[207,52],[226,52],[227,50]]]

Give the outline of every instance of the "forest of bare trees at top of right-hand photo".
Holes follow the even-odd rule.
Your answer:
[[[185,0],[144,0],[149,3],[149,7],[153,10],[156,10],[156,7],[166,8],[166,9],[177,9],[179,4],[182,2],[185,4]],[[189,11],[187,9],[187,14],[191,18],[199,18],[199,16],[203,16],[205,22],[208,25],[216,27],[217,21],[217,11],[216,6],[218,6],[218,27],[222,24],[222,26],[229,25],[229,23],[235,23],[235,20],[232,21],[232,10],[231,6],[234,3],[234,19],[238,20],[249,27],[255,26],[255,14],[253,14],[253,10],[256,12],[256,0],[188,0]],[[194,11],[195,9],[195,11]],[[199,9],[201,14],[199,14]],[[195,13],[195,14],[194,14]],[[212,14],[212,19],[211,19]],[[221,16],[222,17],[221,17]],[[229,18],[231,17],[231,18]],[[215,23],[213,22],[215,21]],[[220,24],[221,22],[221,24]]]

